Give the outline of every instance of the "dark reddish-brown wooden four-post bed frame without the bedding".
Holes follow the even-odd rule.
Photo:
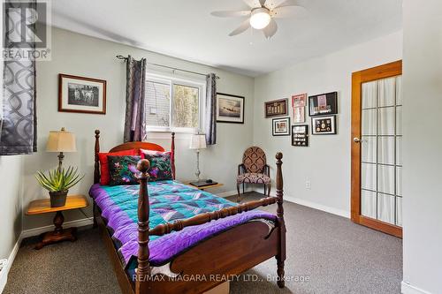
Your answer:
[[[174,133],[171,133],[172,151],[172,174],[175,178],[174,167]],[[95,131],[95,172],[94,183],[100,182],[100,164],[98,153],[100,152],[100,131]],[[164,148],[154,143],[130,142],[110,149],[110,152],[143,148],[164,151]],[[148,294],[148,293],[202,293],[225,283],[232,275],[253,268],[264,260],[275,257],[278,271],[275,280],[279,288],[284,288],[284,262],[286,260],[286,225],[284,222],[283,207],[283,177],[281,170],[282,154],[276,155],[276,197],[267,197],[261,200],[250,201],[236,207],[227,207],[211,213],[195,215],[194,217],[168,222],[149,230],[149,192],[148,170],[149,161],[141,160],[138,170],[141,171],[140,195],[138,200],[138,268],[133,283],[118,257],[115,245],[112,242],[109,231],[100,215],[99,208],[94,201],[94,224],[98,224],[103,235],[104,244],[110,255],[110,260],[118,278],[118,283],[125,294]],[[216,221],[229,215],[236,215],[256,207],[267,206],[277,203],[277,222],[274,229],[269,232],[269,226],[264,222],[247,222],[226,230],[214,237],[210,237],[194,245],[185,253],[171,260],[172,273],[179,274],[181,279],[171,279],[166,275],[151,275],[149,266],[149,235],[163,236],[171,231],[183,230],[186,227]],[[191,278],[193,277],[193,278]]]

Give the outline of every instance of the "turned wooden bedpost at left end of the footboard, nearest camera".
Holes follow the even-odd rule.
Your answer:
[[[140,195],[138,197],[138,268],[136,271],[135,293],[144,294],[149,292],[149,192],[148,170],[150,163],[142,159],[137,164],[141,171]]]

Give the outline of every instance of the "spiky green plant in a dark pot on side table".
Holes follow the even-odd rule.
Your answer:
[[[78,168],[71,166],[65,169],[50,170],[48,175],[38,170],[35,178],[43,188],[50,192],[50,207],[64,207],[69,188],[77,185],[84,177],[78,173]]]

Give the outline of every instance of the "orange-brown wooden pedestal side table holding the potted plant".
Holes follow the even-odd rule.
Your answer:
[[[27,207],[27,215],[42,215],[55,212],[54,225],[55,230],[43,233],[41,235],[42,241],[35,245],[35,249],[42,249],[45,245],[50,245],[61,241],[75,241],[75,232],[77,228],[63,229],[63,222],[65,217],[63,211],[88,207],[88,200],[84,195],[69,195],[66,197],[66,204],[64,207],[50,207],[50,199],[34,200],[29,203]]]

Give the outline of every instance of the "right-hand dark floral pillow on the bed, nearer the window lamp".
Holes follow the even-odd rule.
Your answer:
[[[150,162],[149,182],[172,179],[171,152],[143,153]]]

